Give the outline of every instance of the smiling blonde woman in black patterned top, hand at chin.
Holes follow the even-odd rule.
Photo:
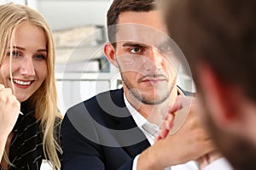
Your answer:
[[[60,169],[55,50],[49,26],[32,8],[0,5],[0,169]]]

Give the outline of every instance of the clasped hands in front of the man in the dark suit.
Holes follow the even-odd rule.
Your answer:
[[[178,96],[175,105],[172,105],[166,116],[166,122],[155,144],[145,150],[138,159],[139,169],[160,169],[181,164],[187,161],[197,160],[215,150],[212,140],[201,125],[200,117],[195,113],[195,99],[192,105],[188,105],[191,97]],[[190,103],[190,102],[189,102]],[[172,129],[174,113],[188,107],[189,115],[183,126],[169,135]],[[177,112],[178,114],[178,112]],[[144,167],[146,166],[146,167]]]

